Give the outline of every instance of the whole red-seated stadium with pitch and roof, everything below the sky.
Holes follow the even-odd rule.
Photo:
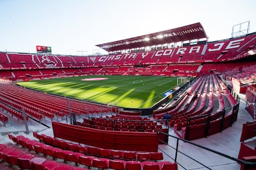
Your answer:
[[[96,46],[0,52],[1,169],[255,168],[256,33],[209,42],[197,22]]]

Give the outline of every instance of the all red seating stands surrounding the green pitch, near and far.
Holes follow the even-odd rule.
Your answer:
[[[173,30],[178,31],[174,38],[184,31],[179,29]],[[206,38],[203,32],[201,30],[190,36]],[[183,36],[188,37],[189,33]],[[101,45],[104,49],[109,43]],[[118,51],[119,48],[121,46],[109,50]],[[163,153],[158,152],[159,144],[168,143],[169,127],[178,137],[186,140],[222,132],[237,120],[239,97],[234,91],[247,92],[247,99],[251,102],[247,110],[255,118],[255,101],[250,97],[255,92],[252,91],[256,83],[255,53],[256,33],[205,44],[129,54],[84,57],[0,52],[0,121],[4,125],[9,123],[10,118],[22,122],[25,112],[27,121],[33,119],[42,123],[50,120],[54,135],[34,132],[38,141],[9,134],[13,142],[36,155],[1,144],[0,156],[8,164],[28,169],[70,168],[70,162],[74,163],[72,169],[81,168],[79,164],[88,169],[177,169],[176,162],[163,161]],[[15,84],[15,81],[82,75],[189,76],[196,79],[168,106],[153,108],[152,118],[142,117],[145,115],[138,110],[67,99]],[[226,84],[228,81],[232,88]],[[70,110],[67,110],[67,100]],[[74,120],[71,124],[55,121],[68,118],[70,112],[80,116],[82,121]],[[171,115],[170,120],[162,119],[166,113]],[[244,144],[244,140],[254,136],[251,126],[254,128],[254,122],[244,124],[241,136],[238,158],[245,161],[255,161],[252,157],[255,156],[255,149],[250,150]],[[48,157],[53,160],[48,160]],[[65,164],[59,163],[56,158],[65,161]]]

